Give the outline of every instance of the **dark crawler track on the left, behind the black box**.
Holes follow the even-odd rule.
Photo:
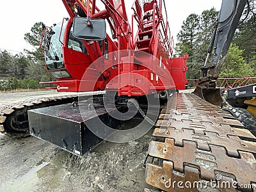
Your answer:
[[[31,99],[0,108],[0,131],[8,134],[29,132],[28,110],[68,104],[76,101],[77,95],[65,95],[44,99]]]

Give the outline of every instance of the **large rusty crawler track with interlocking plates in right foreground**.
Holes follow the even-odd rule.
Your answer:
[[[148,184],[164,191],[256,190],[255,136],[200,97],[173,95],[153,136]]]

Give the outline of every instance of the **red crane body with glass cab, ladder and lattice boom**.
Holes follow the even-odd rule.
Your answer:
[[[124,0],[101,2],[105,10],[99,10],[96,0],[63,0],[70,19],[44,30],[45,63],[58,92],[108,90],[131,97],[184,89],[188,56],[172,58],[164,0],[134,1],[132,24]],[[104,40],[76,38],[76,17],[107,20],[115,40],[109,35]]]

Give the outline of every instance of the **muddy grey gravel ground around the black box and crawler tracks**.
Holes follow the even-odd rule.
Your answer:
[[[61,94],[61,93],[60,93]],[[62,93],[63,94],[63,93]],[[1,94],[0,106],[56,92]],[[132,127],[134,121],[127,122]],[[149,126],[149,125],[148,125]],[[143,191],[152,130],[129,143],[104,141],[77,157],[31,136],[0,134],[0,191]]]

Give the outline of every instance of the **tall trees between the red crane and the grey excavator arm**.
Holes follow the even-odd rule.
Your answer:
[[[207,48],[211,40],[212,29],[218,12],[214,8],[205,10],[201,15],[195,13],[188,16],[183,22],[177,35],[178,44],[176,54],[189,54],[187,79],[200,77],[200,68],[204,64]]]

